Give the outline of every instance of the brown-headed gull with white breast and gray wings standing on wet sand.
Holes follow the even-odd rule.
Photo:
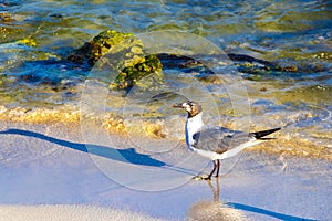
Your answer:
[[[188,113],[186,120],[187,147],[194,152],[214,161],[212,171],[207,177],[198,177],[199,179],[210,180],[216,170],[215,177],[218,177],[220,159],[234,157],[247,147],[273,139],[264,137],[281,129],[278,127],[262,131],[246,133],[231,130],[226,127],[206,127],[201,119],[203,108],[197,102],[188,101],[181,104],[173,104],[172,106],[183,108]]]

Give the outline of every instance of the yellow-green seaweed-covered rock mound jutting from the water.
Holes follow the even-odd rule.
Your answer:
[[[159,59],[155,54],[146,54],[143,42],[131,33],[103,31],[71,53],[68,60],[107,70],[110,76],[104,77],[113,81],[110,88],[123,90],[134,85],[147,88],[163,81]],[[112,77],[112,74],[116,76]]]

